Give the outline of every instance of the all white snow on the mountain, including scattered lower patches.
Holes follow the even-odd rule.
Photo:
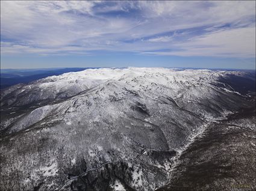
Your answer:
[[[105,141],[112,136],[110,134],[107,134],[108,132],[113,132],[113,136],[114,134],[115,136],[120,135],[121,138],[130,140],[128,139],[130,136],[130,130],[136,128],[137,124],[139,123],[137,121],[133,121],[134,123],[131,122],[128,125],[126,125],[126,123],[124,123],[123,125],[119,124],[119,129],[117,129],[117,127],[115,126],[111,127],[108,126],[107,123],[105,124],[104,120],[107,122],[108,120],[113,121],[113,124],[115,124],[115,121],[122,121],[122,118],[125,119],[126,117],[126,112],[133,112],[130,111],[130,106],[133,104],[135,105],[136,101],[139,100],[140,102],[142,102],[142,104],[146,105],[150,112],[149,117],[147,116],[147,118],[143,119],[144,121],[142,120],[142,127],[144,126],[143,129],[145,130],[150,129],[149,127],[151,127],[151,124],[155,124],[155,121],[160,121],[161,117],[167,114],[164,112],[168,111],[172,115],[172,108],[176,107],[176,105],[184,109],[190,109],[190,106],[194,106],[192,108],[196,109],[197,107],[195,106],[198,106],[196,104],[197,102],[200,102],[201,99],[211,99],[212,97],[216,96],[214,94],[217,94],[218,92],[214,91],[214,88],[216,87],[212,84],[216,81],[218,77],[225,76],[226,74],[230,73],[237,73],[237,71],[226,72],[210,70],[175,70],[169,68],[130,67],[124,69],[88,69],[79,72],[65,73],[60,76],[46,77],[45,79],[37,80],[30,85],[23,86],[23,92],[25,92],[26,88],[30,89],[30,91],[35,88],[36,91],[39,92],[39,97],[42,96],[42,99],[47,99],[47,97],[44,96],[54,98],[58,93],[61,92],[71,92],[70,95],[72,95],[73,97],[70,97],[64,100],[64,102],[55,105],[49,105],[34,109],[34,111],[30,112],[30,114],[27,114],[25,117],[22,117],[18,121],[16,121],[14,126],[12,127],[12,130],[25,129],[26,127],[29,127],[31,126],[31,124],[37,123],[40,120],[42,120],[40,121],[40,124],[42,125],[45,124],[45,122],[43,121],[47,121],[47,124],[57,124],[57,121],[60,121],[60,126],[61,123],[67,125],[61,126],[61,128],[66,129],[58,132],[59,129],[54,124],[53,127],[56,128],[52,128],[52,132],[56,130],[56,135],[61,135],[63,137],[64,135],[65,137],[67,135],[70,135],[70,137],[73,136],[74,138],[80,138],[78,141],[83,143],[80,145],[76,145],[77,148],[72,146],[73,142],[70,145],[65,145],[65,147],[71,148],[72,146],[72,149],[75,148],[77,150],[82,150],[84,151],[83,154],[86,157],[89,156],[88,158],[90,158],[90,160],[95,161],[99,158],[99,156],[101,156],[101,153],[104,153],[105,148],[109,147],[107,143],[105,144]],[[86,89],[87,91],[85,91],[85,93],[83,92],[81,94],[78,94],[79,92]],[[208,91],[208,89],[213,90]],[[234,96],[239,96],[236,92],[229,89],[217,88],[218,91],[220,91],[220,89],[226,95],[235,93]],[[43,94],[44,92],[47,92],[47,94]],[[134,92],[136,92],[136,94],[138,94],[139,96],[134,96]],[[120,99],[121,104],[120,102],[110,102],[111,97],[114,97],[114,99]],[[166,97],[169,97],[173,100],[170,101],[166,99]],[[161,100],[165,102],[164,104],[167,103],[171,106],[167,108],[166,105],[161,105]],[[181,100],[181,102],[179,102],[179,100]],[[173,109],[173,111],[175,110]],[[154,115],[154,113],[156,115]],[[173,112],[173,118],[184,118],[184,116],[181,115],[175,116],[174,113],[175,112]],[[231,111],[224,111],[223,116],[230,113]],[[217,123],[217,120],[222,120],[223,118],[225,118],[216,118],[211,115],[211,112],[204,111],[203,109],[202,115],[207,117],[208,123],[210,123],[211,121],[215,121]],[[127,116],[129,115],[127,114]],[[46,117],[47,119],[45,120]],[[5,121],[5,123],[8,125],[12,123],[12,120]],[[122,127],[126,127],[125,131],[127,132],[125,132]],[[193,133],[189,136],[189,139],[187,139],[187,144],[176,149],[178,155],[176,156],[174,164],[172,164],[172,166],[175,166],[180,154],[191,142],[193,142],[195,137],[202,136],[205,127],[206,126],[203,125],[193,128]],[[44,128],[40,131],[37,130],[37,133],[41,131],[46,131],[46,129]],[[67,132],[69,134],[67,134]],[[88,135],[90,136],[87,136],[85,132],[88,132]],[[101,134],[102,132],[104,132],[104,134]],[[147,134],[148,133],[146,132],[145,138],[147,138]],[[54,133],[52,133],[52,135],[54,135]],[[81,137],[78,135],[81,135]],[[152,139],[152,142],[154,143],[154,136],[152,136],[150,139]],[[110,141],[112,140],[113,139],[110,139]],[[67,142],[68,141],[69,140],[67,140]],[[76,140],[74,140],[74,142],[76,142]],[[134,144],[133,141],[131,141],[131,145],[132,144]],[[120,154],[120,158],[130,159],[130,154],[123,153],[122,145],[125,144],[113,144],[111,145],[111,147],[115,153]],[[255,147],[255,144],[252,145],[254,145]],[[146,145],[145,147],[149,146],[150,145]],[[130,148],[127,148],[127,150],[129,149]],[[147,153],[145,153],[145,155],[146,154]],[[75,155],[72,154],[72,156],[68,158],[70,162],[69,164],[71,165],[75,165],[76,163],[76,158],[74,156]],[[113,158],[111,158],[111,155],[108,154],[104,156],[104,159],[106,161],[113,160]],[[144,169],[142,171],[139,166],[133,165],[134,164],[132,163],[128,163],[129,167],[134,168],[134,172],[132,174],[133,186],[136,189],[142,189],[147,183],[145,181],[146,178],[143,177],[146,171]],[[158,168],[164,169],[165,171],[172,171],[173,169],[170,168],[170,162],[168,161],[164,162],[162,165],[160,165],[160,163],[156,165],[158,166]],[[51,161],[46,166],[40,166],[39,169],[36,169],[34,172],[32,172],[31,176],[34,176],[36,178],[33,178],[31,180],[36,180],[38,177],[40,177],[40,175],[50,177],[57,175],[57,173],[57,162]],[[119,180],[115,180],[112,187],[113,190],[125,190]]]

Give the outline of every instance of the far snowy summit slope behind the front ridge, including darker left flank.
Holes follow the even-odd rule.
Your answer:
[[[180,86],[199,85],[204,80],[207,80],[205,83],[209,83],[216,80],[217,77],[230,73],[240,74],[237,71],[177,71],[167,68],[88,69],[65,73],[60,76],[50,76],[29,85],[17,85],[15,88],[5,89],[1,92],[1,105],[23,106],[40,100],[69,97],[108,80],[120,80],[122,82],[134,82],[136,80],[140,85],[157,83],[167,88],[179,89]]]

